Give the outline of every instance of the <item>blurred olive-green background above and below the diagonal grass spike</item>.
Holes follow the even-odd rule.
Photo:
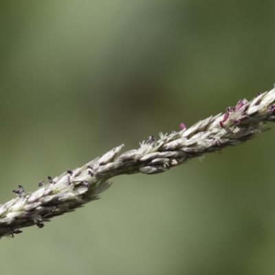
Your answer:
[[[275,81],[274,1],[1,1],[3,203]],[[1,274],[275,274],[274,130],[1,239]]]

